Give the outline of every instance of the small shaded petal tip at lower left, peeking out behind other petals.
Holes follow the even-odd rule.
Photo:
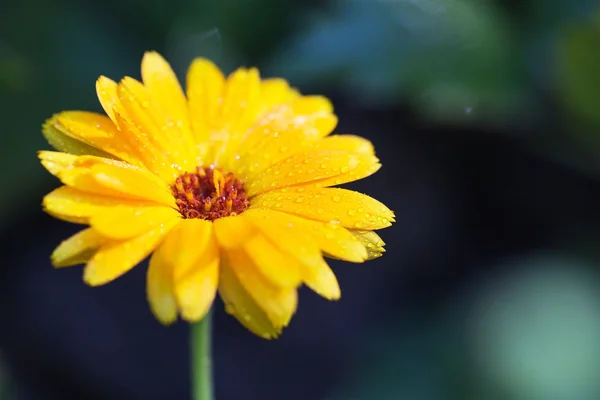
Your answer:
[[[106,242],[106,238],[93,229],[84,229],[64,240],[50,257],[55,267],[70,267],[85,264]]]

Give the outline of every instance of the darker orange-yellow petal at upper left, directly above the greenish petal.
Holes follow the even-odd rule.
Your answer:
[[[130,164],[144,165],[135,148],[123,140],[122,132],[104,115],[86,111],[65,111],[47,120],[44,129],[58,131]],[[102,153],[97,152],[86,154],[102,156]]]

